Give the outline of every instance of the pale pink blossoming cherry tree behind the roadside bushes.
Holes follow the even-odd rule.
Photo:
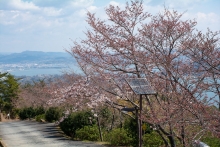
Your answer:
[[[88,77],[66,74],[62,79],[52,82],[47,93],[52,97],[45,103],[47,106],[64,106],[73,111],[95,109],[108,100]]]

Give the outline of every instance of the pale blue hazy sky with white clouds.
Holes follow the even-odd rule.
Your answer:
[[[109,4],[123,7],[126,0],[0,0],[0,52],[62,52],[83,38],[86,12],[106,18]],[[220,0],[144,0],[145,10],[156,14],[166,7],[195,18],[197,29],[220,30]]]

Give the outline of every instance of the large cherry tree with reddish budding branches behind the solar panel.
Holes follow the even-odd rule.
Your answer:
[[[139,0],[127,2],[124,10],[110,5],[106,14],[104,21],[88,12],[87,38],[74,42],[70,53],[91,81],[115,95],[109,104],[139,107],[123,79],[146,78],[158,96],[146,97],[141,118],[167,146],[177,146],[177,140],[189,146],[201,130],[219,134],[219,111],[210,108],[204,93],[214,88],[219,94],[219,58],[210,60],[219,57],[219,32],[198,32],[195,20],[182,20],[183,14],[166,8],[152,16]]]

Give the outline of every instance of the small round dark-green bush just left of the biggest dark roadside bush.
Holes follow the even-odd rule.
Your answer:
[[[54,122],[60,119],[62,115],[61,110],[58,107],[50,107],[45,114],[45,119],[48,122]]]

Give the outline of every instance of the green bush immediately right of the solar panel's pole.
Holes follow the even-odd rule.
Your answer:
[[[159,147],[163,144],[163,140],[156,132],[151,132],[150,134],[145,134],[143,136],[144,147]]]

